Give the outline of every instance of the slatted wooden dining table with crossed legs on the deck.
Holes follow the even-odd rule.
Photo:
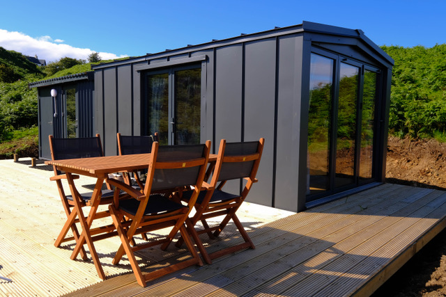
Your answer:
[[[45,161],[45,164],[56,166],[58,170],[63,170],[64,172],[66,172],[68,184],[70,186],[70,191],[73,198],[75,197],[77,192],[75,191],[73,175],[85,175],[89,177],[95,177],[97,179],[95,188],[93,189],[93,195],[91,196],[91,209],[89,211],[89,215],[85,217],[82,209],[80,209],[79,206],[75,205],[75,207],[78,208],[76,209],[76,211],[79,216],[79,223],[82,227],[82,233],[79,236],[79,239],[77,239],[76,241],[76,246],[72,251],[72,255],[70,258],[76,259],[77,255],[79,255],[80,250],[84,246],[84,243],[86,243],[90,250],[91,258],[93,259],[93,263],[95,264],[96,271],[98,272],[98,275],[102,280],[105,280],[106,277],[100,264],[98,253],[95,250],[93,241],[114,236],[115,233],[112,233],[109,228],[105,228],[104,230],[102,230],[102,234],[100,234],[101,230],[99,230],[99,232],[95,232],[95,234],[91,234],[90,232],[93,219],[95,218],[95,214],[98,211],[98,207],[100,205],[100,193],[102,190],[102,185],[104,184],[105,179],[107,179],[109,174],[111,173],[123,171],[130,172],[133,170],[143,170],[148,168],[149,160],[150,154],[127,154],[123,156],[97,156],[82,159]],[[210,172],[212,172],[215,161],[217,161],[217,154],[210,154],[209,167],[208,171],[206,172],[207,177],[210,175]],[[113,224],[111,224],[110,226],[112,225]],[[95,235],[94,240],[92,237],[93,235]]]

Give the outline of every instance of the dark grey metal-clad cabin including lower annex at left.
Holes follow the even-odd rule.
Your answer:
[[[40,158],[49,134],[99,133],[106,155],[117,132],[214,152],[264,137],[248,201],[302,211],[385,181],[393,65],[361,30],[312,22],[94,65],[30,84]]]

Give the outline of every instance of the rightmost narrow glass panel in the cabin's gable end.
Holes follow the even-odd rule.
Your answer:
[[[360,179],[370,179],[373,177],[376,76],[376,72],[365,70],[364,91],[362,95]]]

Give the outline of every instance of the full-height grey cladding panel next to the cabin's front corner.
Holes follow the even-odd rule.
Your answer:
[[[300,87],[303,35],[279,38],[277,71],[277,134],[275,207],[298,209]],[[306,168],[306,165],[305,165]]]

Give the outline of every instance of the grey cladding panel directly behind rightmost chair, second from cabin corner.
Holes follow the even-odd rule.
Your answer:
[[[257,172],[257,178],[262,182],[252,188],[247,199],[263,205],[272,205],[275,195],[272,192],[272,172],[275,160],[276,49],[276,38],[245,44],[243,141],[266,139]]]

